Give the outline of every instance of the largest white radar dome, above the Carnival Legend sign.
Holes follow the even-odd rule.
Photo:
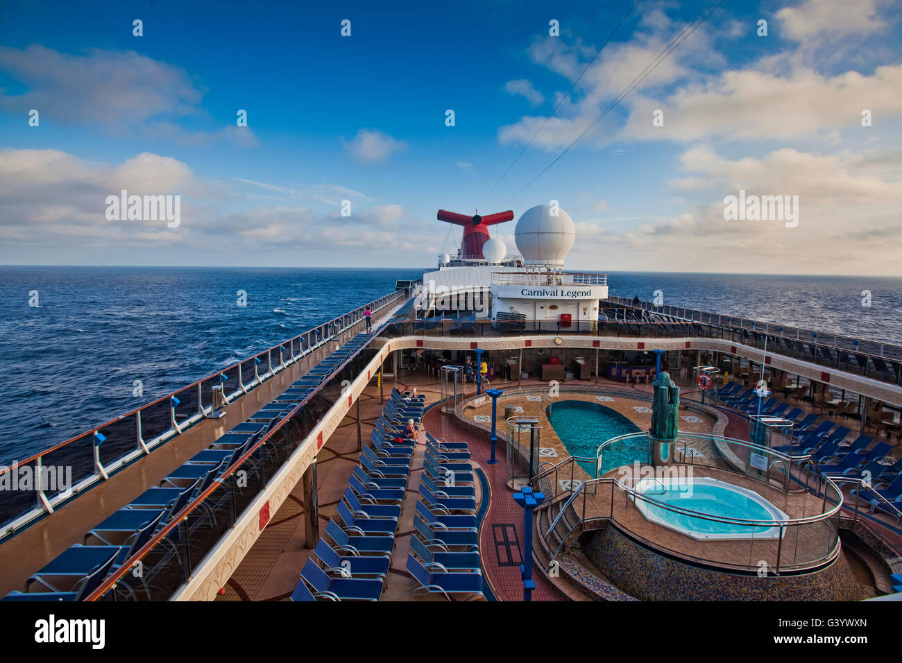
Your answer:
[[[514,237],[526,264],[563,267],[576,240],[576,228],[560,207],[537,205],[520,216]]]

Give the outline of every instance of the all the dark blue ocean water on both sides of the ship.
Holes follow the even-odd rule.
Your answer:
[[[421,270],[0,267],[0,464],[388,294]],[[612,273],[613,295],[902,343],[902,280]],[[29,306],[38,291],[40,308]],[[237,291],[247,292],[247,306]],[[870,308],[861,291],[870,290]],[[133,396],[133,382],[143,396]]]

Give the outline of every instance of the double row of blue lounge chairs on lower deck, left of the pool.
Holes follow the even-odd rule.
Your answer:
[[[391,566],[414,443],[400,437],[422,419],[424,400],[392,390],[329,520],[301,570],[292,601],[378,601]],[[483,596],[473,468],[466,443],[427,433],[407,569],[414,594]],[[450,478],[449,478],[450,477]]]

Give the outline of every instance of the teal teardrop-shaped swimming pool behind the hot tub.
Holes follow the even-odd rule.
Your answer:
[[[642,432],[620,412],[588,401],[558,401],[551,407],[548,421],[566,447],[567,453],[584,458],[594,458],[598,447],[612,437]],[[623,446],[618,446],[616,453],[603,456],[601,474],[614,467],[632,465],[636,460],[646,463],[648,459],[648,439],[640,437],[629,440]],[[594,462],[585,461],[579,465],[591,476],[595,475]]]

